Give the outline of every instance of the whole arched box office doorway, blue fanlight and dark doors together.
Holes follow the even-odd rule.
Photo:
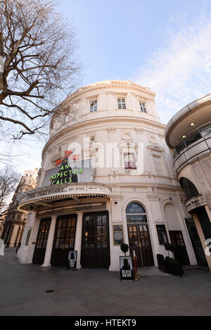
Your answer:
[[[153,251],[146,211],[139,203],[129,203],[126,208],[129,250],[136,251],[138,266],[153,266]]]

